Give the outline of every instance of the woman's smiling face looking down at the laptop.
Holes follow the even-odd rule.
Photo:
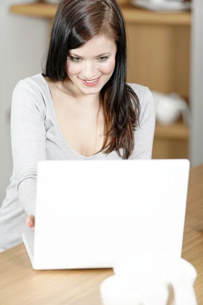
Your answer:
[[[85,95],[98,94],[114,72],[116,51],[115,42],[105,36],[70,50],[66,72],[74,87]]]

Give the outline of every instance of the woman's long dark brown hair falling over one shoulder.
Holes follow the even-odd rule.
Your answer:
[[[53,21],[43,76],[63,81],[67,77],[65,66],[69,50],[102,35],[115,41],[117,53],[113,75],[100,91],[105,133],[101,151],[109,154],[116,150],[122,159],[128,159],[134,149],[140,103],[136,93],[126,84],[125,22],[116,0],[61,1]]]

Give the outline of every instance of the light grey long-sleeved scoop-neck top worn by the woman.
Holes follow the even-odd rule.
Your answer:
[[[141,104],[140,127],[134,132],[130,159],[151,159],[155,127],[154,102],[147,87],[129,84]],[[13,173],[0,209],[0,252],[22,242],[26,216],[35,215],[37,164],[40,160],[119,159],[118,154],[85,157],[63,138],[48,83],[37,74],[16,85],[11,108]]]

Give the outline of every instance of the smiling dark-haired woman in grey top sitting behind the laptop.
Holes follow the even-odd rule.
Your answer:
[[[150,159],[154,126],[149,89],[126,84],[116,0],[63,0],[45,73],[21,80],[13,92],[13,174],[0,210],[1,251],[35,226],[40,160]]]

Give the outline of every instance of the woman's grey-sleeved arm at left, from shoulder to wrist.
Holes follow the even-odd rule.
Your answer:
[[[18,198],[27,215],[35,215],[37,164],[46,159],[45,116],[40,89],[20,81],[12,97],[11,144]]]

